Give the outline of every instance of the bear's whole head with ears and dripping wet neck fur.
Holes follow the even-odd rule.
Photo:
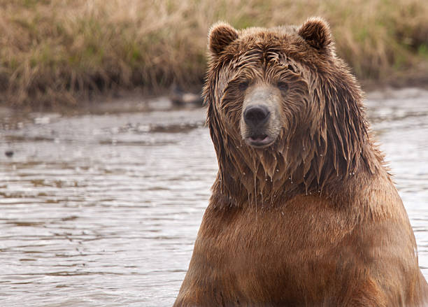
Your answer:
[[[204,99],[217,152],[214,190],[273,203],[320,192],[364,162],[362,93],[327,22],[236,30],[215,24]]]

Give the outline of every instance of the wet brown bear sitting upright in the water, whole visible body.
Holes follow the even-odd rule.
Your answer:
[[[428,306],[415,236],[327,22],[209,34],[219,171],[174,306]]]

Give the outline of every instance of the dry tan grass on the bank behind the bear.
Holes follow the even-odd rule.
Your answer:
[[[271,27],[311,15],[329,21],[359,78],[427,62],[426,0],[0,0],[0,101],[52,106],[200,85],[213,22]]]

